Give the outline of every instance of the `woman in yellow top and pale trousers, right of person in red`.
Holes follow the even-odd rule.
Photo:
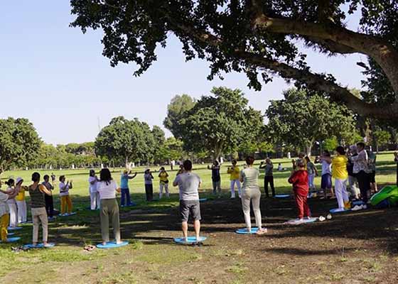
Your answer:
[[[351,204],[347,193],[348,158],[343,146],[335,149],[336,156],[332,159],[332,177],[335,179],[335,196],[338,202],[338,210],[350,209]]]

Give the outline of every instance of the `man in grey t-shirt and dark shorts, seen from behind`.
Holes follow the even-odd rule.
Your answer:
[[[200,203],[198,189],[202,183],[199,175],[192,173],[192,162],[185,160],[184,173],[176,176],[173,186],[178,186],[180,193],[180,217],[183,238],[188,241],[188,219],[193,218],[196,241],[200,241]]]

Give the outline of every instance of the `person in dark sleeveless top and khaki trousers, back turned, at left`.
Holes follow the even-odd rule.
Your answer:
[[[48,217],[45,211],[45,200],[44,195],[52,195],[50,190],[44,185],[39,185],[40,174],[32,174],[33,184],[28,187],[29,195],[31,195],[31,212],[33,219],[33,246],[36,246],[38,242],[38,228],[41,225],[43,229],[43,245],[48,245]]]

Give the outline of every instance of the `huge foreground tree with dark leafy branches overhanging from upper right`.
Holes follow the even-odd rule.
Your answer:
[[[398,118],[398,2],[392,0],[71,0],[72,26],[101,28],[103,54],[115,66],[134,62],[141,75],[156,61],[156,48],[173,33],[187,60],[210,62],[210,75],[245,72],[261,88],[274,73],[301,87],[326,93],[350,109],[380,119]],[[345,23],[360,11],[357,31]],[[375,63],[392,92],[387,104],[367,102],[332,75],[306,62],[308,48],[328,55],[360,53]],[[362,66],[364,62],[360,63]],[[384,100],[385,101],[385,100]]]

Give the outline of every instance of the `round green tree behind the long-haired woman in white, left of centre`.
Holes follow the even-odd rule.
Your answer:
[[[148,124],[123,116],[112,119],[95,139],[95,152],[109,160],[149,161],[154,155],[155,139]]]

